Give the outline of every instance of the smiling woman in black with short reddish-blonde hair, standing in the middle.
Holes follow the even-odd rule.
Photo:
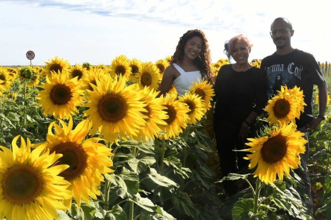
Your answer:
[[[247,168],[247,153],[232,150],[244,149],[250,127],[268,100],[265,71],[248,62],[252,45],[245,35],[233,37],[227,52],[236,63],[222,66],[215,82],[214,130],[222,176]],[[224,188],[229,195],[237,191],[229,181]]]

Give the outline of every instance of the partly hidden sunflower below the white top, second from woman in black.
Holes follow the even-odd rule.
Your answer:
[[[197,94],[185,93],[178,98],[179,102],[185,103],[190,109],[187,112],[189,119],[187,120],[188,124],[194,125],[197,121],[200,121],[204,116],[205,105],[204,101]]]

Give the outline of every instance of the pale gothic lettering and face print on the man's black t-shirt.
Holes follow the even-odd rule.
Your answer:
[[[265,70],[269,80],[268,96],[273,97],[276,95],[283,85],[286,85],[288,88],[298,85],[297,81],[302,79],[303,69],[302,65],[296,65],[293,62],[266,66]]]

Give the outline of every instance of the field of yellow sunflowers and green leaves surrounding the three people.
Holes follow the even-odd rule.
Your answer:
[[[302,90],[282,87],[269,100],[247,143],[247,171],[221,179],[212,85],[160,96],[170,60],[119,55],[109,66],[72,66],[54,57],[45,66],[0,67],[0,219],[311,219],[293,172],[306,151],[293,122]],[[213,63],[214,74],[228,63]],[[290,113],[278,117],[279,103]],[[317,220],[331,219],[330,132],[328,117],[309,134]],[[228,197],[224,180],[240,192]]]

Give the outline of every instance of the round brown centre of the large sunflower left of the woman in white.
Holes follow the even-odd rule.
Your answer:
[[[98,111],[103,120],[115,123],[127,115],[127,102],[118,94],[106,94],[99,101]]]

